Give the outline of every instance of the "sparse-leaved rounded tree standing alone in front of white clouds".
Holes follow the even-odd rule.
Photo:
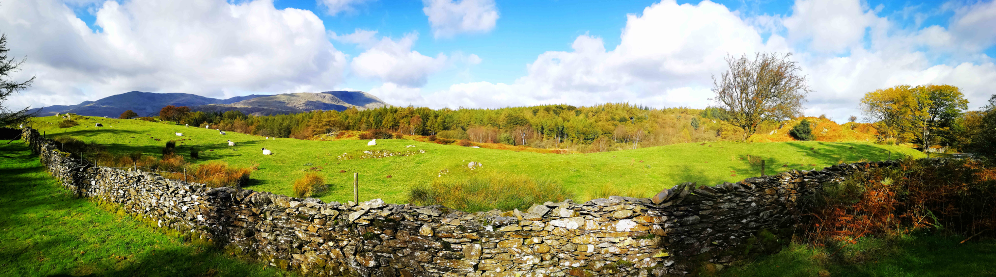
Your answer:
[[[802,113],[806,95],[813,90],[806,76],[789,60],[792,54],[756,54],[754,60],[727,56],[729,70],[712,76],[712,92],[729,116],[728,121],[744,130],[741,141],[757,132],[765,122],[781,121]]]

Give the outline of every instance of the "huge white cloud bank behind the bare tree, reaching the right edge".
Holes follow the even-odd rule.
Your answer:
[[[963,9],[952,25],[996,18],[970,15],[985,14],[985,5]],[[607,51],[601,38],[585,34],[570,52],[541,54],[512,83],[458,83],[424,98],[436,107],[627,101],[700,108],[712,103],[710,76],[726,70],[727,54],[793,52],[816,90],[805,104],[809,115],[846,120],[859,114],[865,92],[898,84],[953,84],[973,108],[985,103],[992,93],[987,87],[996,83],[992,60],[978,52],[944,55],[966,51],[960,38],[967,35],[954,31],[960,27],[905,30],[875,13],[858,0],[798,1],[791,16],[743,16],[709,1],[678,5],[664,0],[627,16],[615,50]],[[986,32],[971,33],[981,38],[976,40],[981,49],[994,44]],[[764,40],[766,33],[770,36]]]

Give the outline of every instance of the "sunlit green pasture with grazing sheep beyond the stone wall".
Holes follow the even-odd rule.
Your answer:
[[[567,187],[575,195],[575,201],[587,201],[595,195],[594,192],[606,186],[649,197],[682,182],[716,185],[759,176],[760,167],[748,162],[749,155],[763,158],[768,165],[768,174],[792,169],[819,169],[862,159],[885,160],[889,152],[892,158],[900,154],[923,156],[913,149],[897,146],[813,141],[686,143],[592,154],[540,154],[412,140],[377,140],[376,146],[367,146],[365,140],[264,140],[263,137],[235,132],[220,135],[210,129],[97,117],[78,120],[80,126],[58,128],[59,121],[61,119],[54,116],[41,117],[36,118],[32,126],[49,137],[69,135],[106,144],[110,151],[119,154],[141,151],[146,155],[158,155],[167,140],[187,139],[178,142],[177,153],[189,158],[186,157],[189,152],[187,147],[201,150],[200,160],[188,161],[204,163],[220,160],[237,167],[257,166],[248,189],[281,195],[291,195],[294,180],[315,168],[312,171],[321,170],[319,173],[331,185],[327,193],[317,197],[339,202],[352,199],[354,172],[361,176],[361,201],[379,198],[388,203],[406,203],[408,189],[413,186],[423,186],[437,178],[466,178],[481,172],[553,180]],[[103,123],[105,127],[95,127],[96,122]],[[181,132],[184,136],[177,137],[173,132]],[[237,146],[227,146],[226,140],[234,141]],[[415,147],[405,148],[407,145]],[[263,156],[260,150],[263,147],[272,150],[275,155]],[[365,150],[402,152],[419,149],[426,153],[376,159],[337,159],[344,153],[361,156]],[[483,167],[471,171],[467,169],[471,161],[482,163]],[[449,174],[439,177],[443,170]]]

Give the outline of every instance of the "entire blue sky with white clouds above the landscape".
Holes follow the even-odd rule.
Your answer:
[[[13,0],[19,105],[129,90],[212,97],[364,90],[395,105],[709,105],[726,54],[794,53],[806,113],[864,92],[996,82],[992,1]],[[628,30],[628,31],[627,31]],[[19,48],[18,46],[24,46]]]

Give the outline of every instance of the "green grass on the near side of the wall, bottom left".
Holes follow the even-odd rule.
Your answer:
[[[0,142],[0,276],[288,276],[77,200],[27,145]]]

